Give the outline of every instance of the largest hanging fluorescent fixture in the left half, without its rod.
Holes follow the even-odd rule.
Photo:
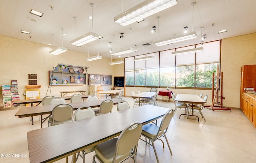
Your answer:
[[[70,44],[80,47],[99,38],[102,38],[102,36],[93,32],[88,32],[76,39],[73,39],[72,41],[70,41]]]

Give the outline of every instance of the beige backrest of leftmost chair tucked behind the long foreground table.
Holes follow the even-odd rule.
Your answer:
[[[73,107],[70,104],[58,104],[52,109],[52,126],[54,126],[54,122],[62,122],[66,120],[72,120],[73,116]]]

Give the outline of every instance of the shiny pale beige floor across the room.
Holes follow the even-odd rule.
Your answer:
[[[133,106],[132,98],[123,99]],[[158,102],[158,105],[174,108],[173,102]],[[0,163],[29,163],[26,133],[40,128],[40,121],[39,116],[36,116],[32,125],[30,118],[15,117],[19,107],[0,109]],[[113,111],[116,111],[116,106]],[[200,122],[186,116],[179,119],[184,111],[176,112],[167,132],[173,155],[170,155],[165,140],[165,148],[161,141],[155,142],[160,163],[256,162],[256,128],[241,110],[230,112],[204,108],[202,112],[206,122],[202,117]],[[43,127],[47,127],[46,122]],[[92,162],[93,155],[94,152],[86,155],[87,163]],[[156,163],[153,148],[139,141],[136,161]],[[57,162],[65,163],[65,159]],[[71,162],[71,157],[68,162]],[[82,159],[79,158],[77,162],[82,163]],[[124,162],[133,163],[133,160],[127,159]]]

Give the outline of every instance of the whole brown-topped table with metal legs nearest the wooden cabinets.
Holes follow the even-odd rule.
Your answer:
[[[188,104],[192,104],[192,114],[188,114],[187,109],[185,109],[185,114],[180,114],[180,116],[181,115],[195,116],[195,115],[193,115],[193,104],[206,103],[206,101],[204,101],[202,98],[200,98],[197,94],[177,94],[175,101],[186,103],[187,108],[188,108]],[[199,122],[199,117],[198,116],[195,116],[195,117],[198,118],[198,122]]]

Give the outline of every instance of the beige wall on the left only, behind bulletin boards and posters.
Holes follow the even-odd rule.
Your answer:
[[[28,85],[28,74],[37,74],[38,85],[42,86],[40,97],[44,97],[48,90],[48,71],[52,71],[52,67],[55,67],[58,63],[89,67],[89,74],[114,74],[114,66],[108,64],[110,59],[102,58],[96,61],[86,61],[88,54],[85,53],[68,50],[60,55],[50,55],[49,51],[51,50],[52,46],[0,35],[0,86],[10,84],[11,80],[17,80],[20,99],[25,99],[23,93],[26,85]],[[81,86],[52,86],[51,95],[60,96],[59,91],[65,90],[88,90],[87,86],[87,83]],[[112,86],[108,87],[106,89],[110,89]],[[47,95],[49,95],[49,92],[50,89]],[[2,91],[0,106],[3,106]]]

